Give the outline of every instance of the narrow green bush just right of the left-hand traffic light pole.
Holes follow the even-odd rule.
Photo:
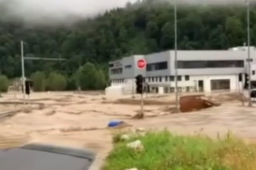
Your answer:
[[[30,76],[30,79],[34,82],[34,91],[45,91],[45,74],[44,72],[36,72]]]

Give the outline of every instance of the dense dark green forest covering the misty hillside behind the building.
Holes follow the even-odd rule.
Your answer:
[[[173,4],[144,0],[106,11],[72,27],[30,26],[22,19],[0,20],[0,74],[21,76],[20,40],[27,57],[66,61],[25,62],[26,76],[43,71],[64,75],[75,83],[80,66],[90,62],[108,79],[108,61],[131,54],[148,54],[174,46]],[[0,4],[0,9],[1,4]],[[256,5],[251,5],[252,45],[256,42]],[[246,6],[178,5],[178,48],[227,49],[246,41]],[[207,57],[207,56],[206,56]],[[81,69],[80,69],[81,70]],[[85,73],[85,72],[84,72]],[[70,89],[74,84],[68,84]]]

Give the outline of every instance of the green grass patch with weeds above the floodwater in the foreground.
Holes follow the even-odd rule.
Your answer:
[[[256,170],[256,146],[228,133],[223,140],[203,136],[176,136],[168,131],[150,132],[122,142],[116,140],[103,170]],[[141,140],[144,151],[126,143]]]

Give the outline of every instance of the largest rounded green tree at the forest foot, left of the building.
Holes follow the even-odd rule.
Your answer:
[[[97,70],[92,63],[86,63],[82,66],[77,75],[77,83],[82,90],[96,89],[97,84]]]

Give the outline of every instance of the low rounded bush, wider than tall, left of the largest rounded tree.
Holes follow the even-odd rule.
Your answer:
[[[50,73],[47,78],[47,90],[62,91],[67,87],[66,78],[58,73]]]

